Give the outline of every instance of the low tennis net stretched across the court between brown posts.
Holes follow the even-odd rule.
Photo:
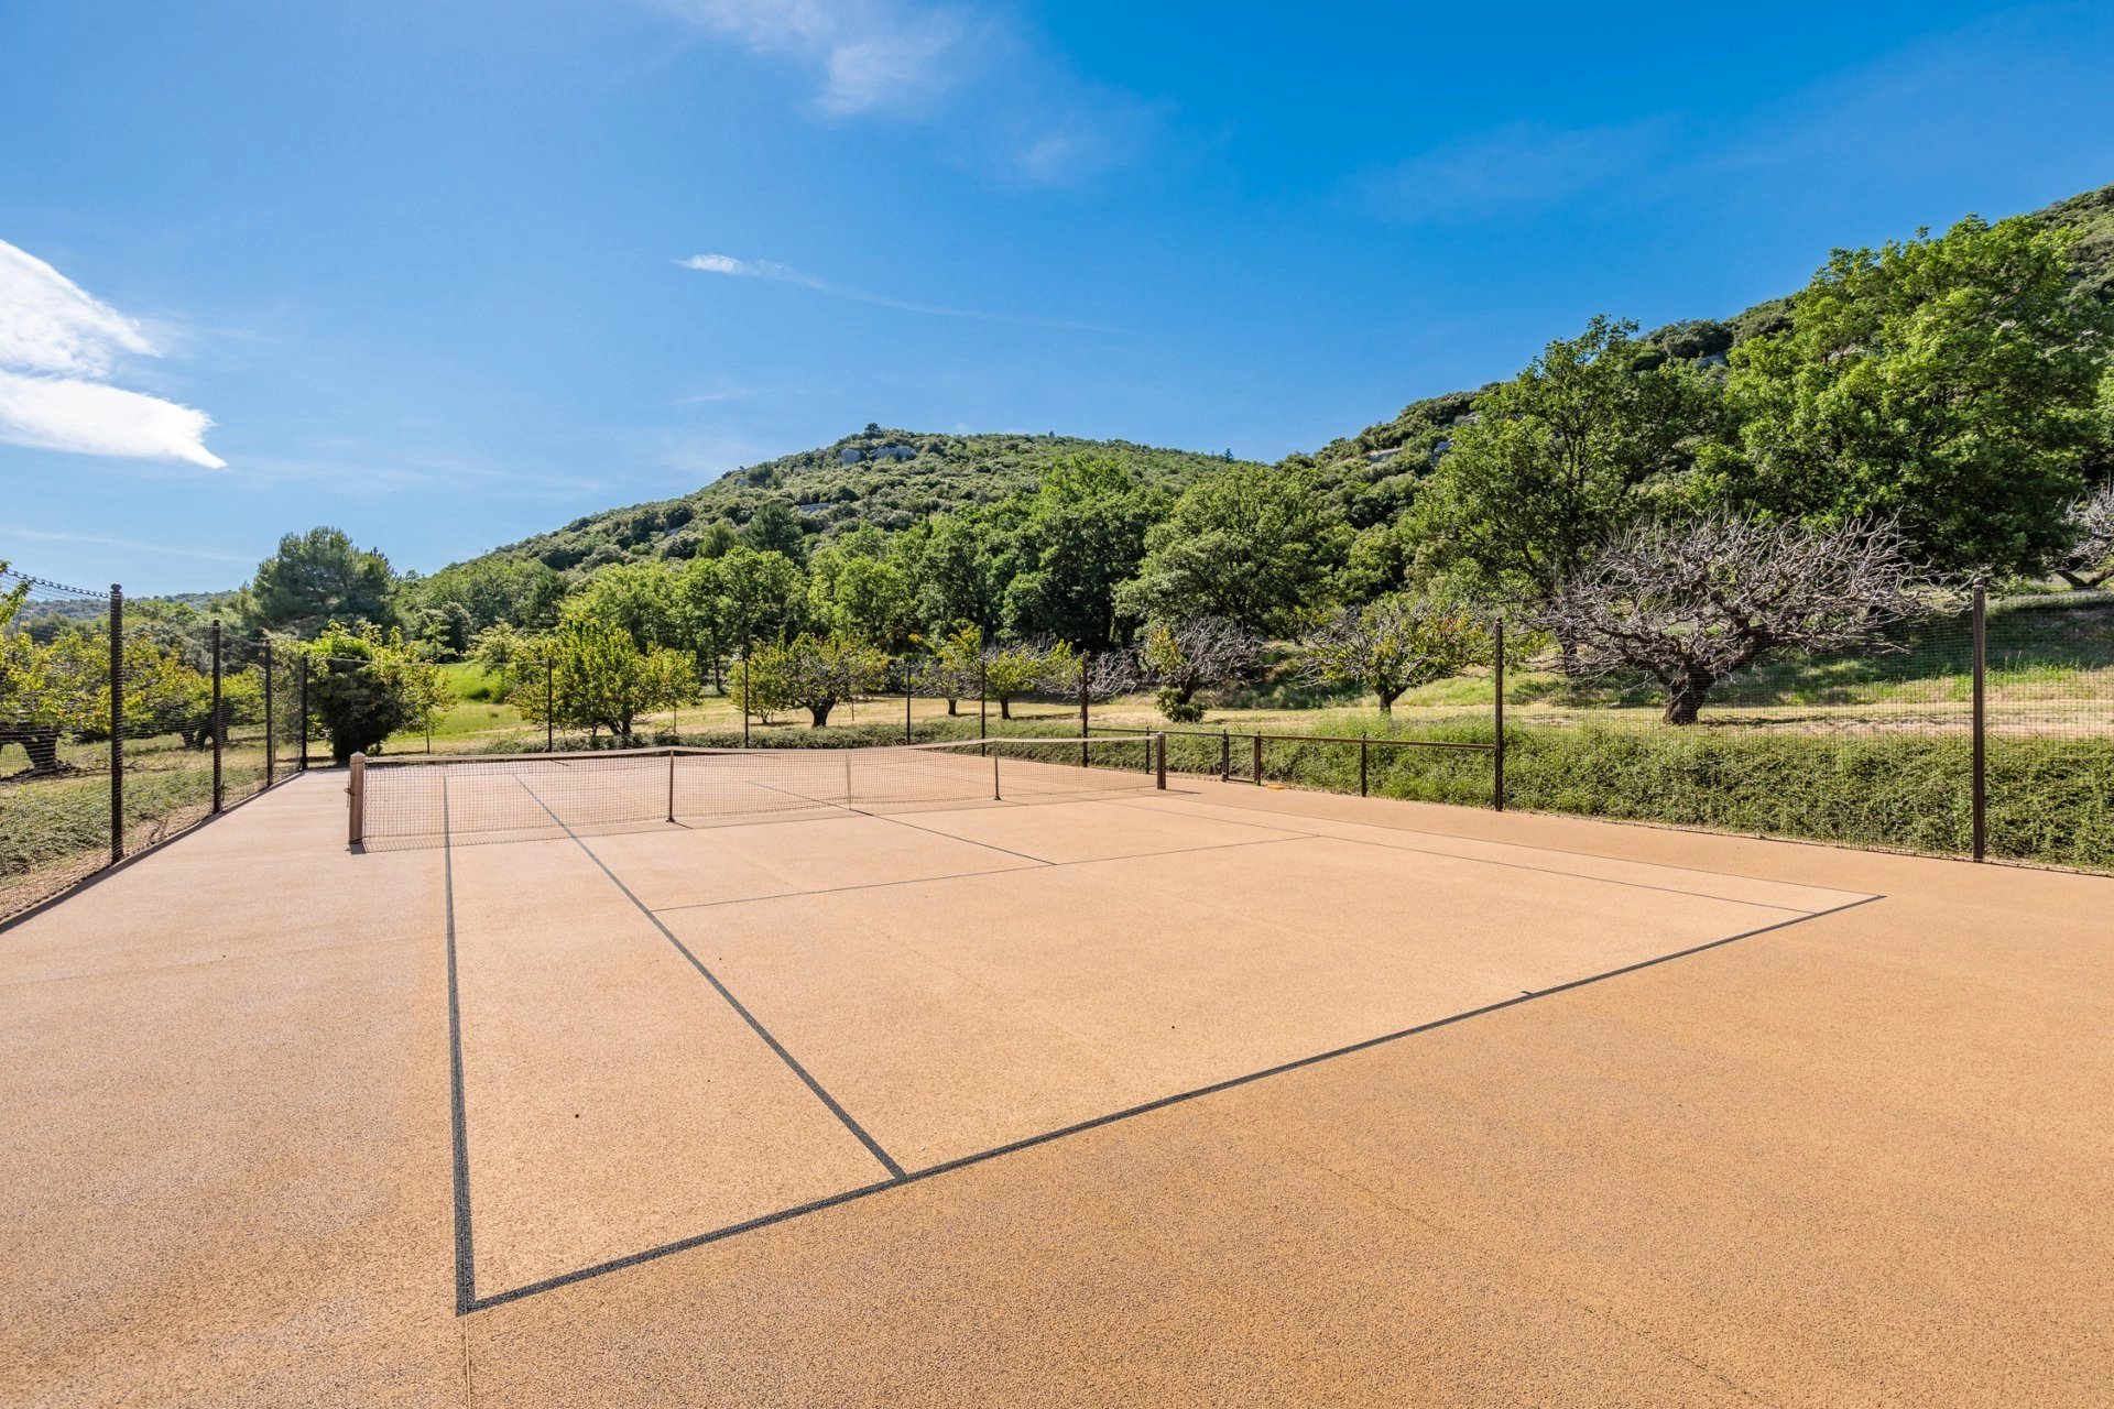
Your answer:
[[[1156,735],[879,748],[355,758],[351,839],[505,841],[789,813],[1046,803],[1165,786]]]

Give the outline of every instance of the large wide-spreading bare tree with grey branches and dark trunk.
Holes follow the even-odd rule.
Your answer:
[[[1577,642],[1588,674],[1649,674],[1666,722],[1693,725],[1710,687],[1769,651],[1843,651],[1928,610],[1932,581],[1905,549],[1875,522],[1647,524],[1558,583],[1537,623]]]

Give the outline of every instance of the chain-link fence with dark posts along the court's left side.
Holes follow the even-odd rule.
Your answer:
[[[0,919],[302,767],[300,653],[0,570]]]

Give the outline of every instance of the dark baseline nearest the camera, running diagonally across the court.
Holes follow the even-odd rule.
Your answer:
[[[1408,1037],[1418,1037],[1423,1033],[1431,1033],[1431,1031],[1438,1031],[1442,1027],[1452,1027],[1454,1022],[1467,1022],[1471,1018],[1486,1018],[1486,1016],[1503,1012],[1507,1008],[1518,1008],[1522,1003],[1533,1003],[1535,999],[1556,997],[1560,993],[1571,993],[1573,989],[1586,989],[1590,984],[1607,982],[1611,978],[1621,978],[1626,974],[1636,974],[1640,970],[1657,967],[1662,963],[1672,963],[1674,959],[1689,959],[1693,955],[1700,955],[1700,953],[1706,953],[1706,951],[1712,951],[1712,948],[1723,948],[1725,944],[1738,944],[1740,940],[1753,940],[1757,936],[1772,934],[1776,929],[1788,929],[1791,925],[1803,925],[1803,923],[1810,923],[1810,921],[1816,921],[1816,919],[1826,919],[1829,915],[1841,915],[1843,910],[1854,910],[1858,906],[1873,904],[1877,900],[1886,900],[1886,896],[1875,894],[1875,896],[1865,896],[1860,900],[1850,900],[1848,904],[1839,904],[1839,906],[1833,906],[1829,910],[1814,910],[1810,915],[1799,913],[1793,919],[1780,919],[1776,923],[1761,925],[1757,929],[1742,929],[1740,934],[1727,934],[1725,938],[1719,938],[1719,940],[1704,940],[1702,944],[1691,944],[1689,948],[1679,948],[1679,951],[1674,951],[1670,955],[1657,955],[1653,959],[1638,959],[1636,963],[1626,963],[1621,967],[1613,967],[1613,970],[1607,970],[1607,972],[1600,972],[1600,974],[1588,974],[1586,978],[1571,978],[1566,982],[1552,984],[1547,989],[1535,989],[1535,991],[1528,991],[1528,993],[1520,993],[1518,997],[1507,997],[1507,999],[1499,999],[1495,1003],[1484,1003],[1482,1008],[1469,1008],[1465,1012],[1448,1014],[1444,1018],[1433,1018],[1429,1022],[1418,1022],[1414,1027],[1404,1027],[1404,1029],[1393,1031],[1393,1033],[1383,1033],[1378,1037],[1366,1037],[1361,1041],[1353,1041],[1353,1044],[1347,1044],[1347,1046],[1340,1046],[1340,1048],[1330,1048],[1328,1052],[1315,1052],[1313,1056],[1298,1056],[1298,1058],[1292,1058],[1287,1063],[1277,1063],[1275,1067],[1264,1067],[1260,1071],[1249,1071],[1249,1073],[1243,1073],[1243,1075],[1237,1075],[1237,1077],[1226,1077],[1224,1082],[1211,1082],[1209,1086],[1197,1086],[1192,1090],[1175,1092],[1171,1096],[1156,1096],[1152,1101],[1144,1101],[1144,1103],[1137,1103],[1137,1105],[1123,1107],[1120,1111],[1110,1111],[1106,1115],[1095,1115],[1091,1120],[1074,1122],[1070,1126],[1059,1126],[1057,1130],[1046,1130],[1042,1134],[1030,1134],[1025,1139],[1008,1141],[1004,1145],[994,1145],[991,1149],[981,1149],[977,1153],[958,1156],[953,1160],[941,1160],[939,1164],[928,1164],[928,1166],[917,1168],[917,1170],[907,1170],[907,1172],[894,1175],[892,1179],[884,1179],[884,1181],[877,1181],[877,1183],[871,1183],[871,1185],[860,1185],[856,1189],[843,1189],[839,1194],[829,1194],[824,1198],[816,1198],[816,1200],[810,1200],[805,1204],[793,1204],[791,1208],[780,1208],[776,1213],[763,1213],[763,1215],[757,1215],[753,1219],[742,1219],[740,1223],[727,1223],[725,1227],[717,1227],[717,1229],[706,1232],[706,1234],[693,1234],[689,1238],[676,1238],[674,1242],[664,1242],[660,1246],[641,1248],[638,1253],[626,1253],[624,1257],[611,1257],[609,1261],[592,1263],[588,1267],[575,1267],[573,1272],[560,1272],[558,1276],[548,1276],[548,1278],[541,1278],[537,1282],[526,1282],[522,1286],[514,1286],[514,1289],[507,1289],[507,1291],[501,1291],[501,1293],[493,1293],[488,1297],[478,1297],[471,1303],[469,1312],[484,1312],[484,1310],[490,1310],[490,1308],[497,1308],[497,1305],[505,1305],[509,1301],[522,1301],[524,1297],[541,1295],[545,1291],[556,1291],[560,1286],[571,1286],[575,1282],[586,1282],[586,1280],[592,1280],[592,1278],[598,1278],[598,1276],[609,1276],[611,1272],[624,1272],[626,1267],[636,1267],[641,1263],[660,1261],[662,1257],[672,1257],[674,1253],[687,1253],[691,1248],[702,1248],[702,1246],[712,1244],[712,1242],[723,1242],[723,1240],[736,1238],[740,1234],[750,1234],[750,1232],[757,1232],[757,1229],[763,1229],[763,1227],[772,1227],[772,1225],[778,1225],[778,1223],[789,1223],[793,1219],[801,1219],[801,1217],[808,1217],[812,1213],[822,1213],[824,1208],[839,1208],[843,1204],[850,1204],[850,1202],[856,1202],[856,1200],[863,1200],[863,1198],[871,1198],[875,1194],[886,1194],[888,1189],[901,1189],[903,1185],[922,1183],[926,1179],[937,1179],[941,1175],[951,1175],[956,1170],[964,1170],[964,1168],[970,1168],[970,1166],[977,1166],[977,1164],[985,1164],[987,1160],[998,1160],[1002,1156],[1013,1156],[1013,1153],[1019,1153],[1023,1149],[1034,1149],[1038,1145],[1051,1145],[1055,1141],[1063,1141],[1063,1139],[1070,1139],[1074,1134],[1087,1134],[1089,1130],[1099,1130],[1101,1126],[1114,1126],[1114,1124],[1125,1122],[1125,1120],[1135,1120],[1139,1115],[1150,1115],[1152,1111],[1163,1111],[1163,1109],[1167,1109],[1171,1105],[1182,1105],[1186,1101],[1199,1101],[1203,1096],[1216,1096],[1220,1092],[1228,1092],[1228,1090],[1235,1090],[1235,1088],[1241,1088],[1241,1086],[1249,1086],[1254,1082],[1266,1082],[1271,1077],[1279,1077],[1279,1075],[1285,1075],[1285,1073],[1292,1073],[1292,1071],[1300,1071],[1304,1067],[1317,1067],[1321,1063],[1330,1063],[1330,1060],[1336,1060],[1336,1058],[1342,1058],[1342,1056],[1353,1056],[1357,1052],[1368,1052],[1372,1048],[1380,1048],[1380,1046],[1389,1046],[1389,1044],[1395,1044],[1395,1041],[1404,1041]],[[1725,902],[1725,904],[1738,904],[1738,902]]]

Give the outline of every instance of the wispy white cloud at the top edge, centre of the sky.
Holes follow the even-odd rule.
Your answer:
[[[1063,186],[1152,144],[1161,108],[1072,72],[989,4],[657,0],[698,30],[816,78],[824,120],[930,123],[966,165]]]

